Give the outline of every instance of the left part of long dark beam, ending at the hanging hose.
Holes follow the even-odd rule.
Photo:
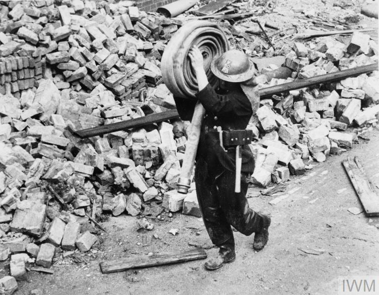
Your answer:
[[[73,131],[80,138],[89,138],[97,135],[104,135],[107,133],[112,133],[116,131],[122,131],[130,128],[138,128],[146,126],[153,123],[159,123],[166,120],[179,118],[177,110],[169,110],[161,113],[147,115],[145,117],[126,120],[123,122],[103,125],[95,128],[83,129],[78,131]]]

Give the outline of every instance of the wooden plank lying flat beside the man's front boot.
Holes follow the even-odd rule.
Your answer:
[[[102,273],[111,273],[133,268],[188,262],[205,258],[207,258],[207,253],[204,249],[193,249],[178,253],[153,254],[150,256],[143,255],[109,262],[100,262],[100,268]]]

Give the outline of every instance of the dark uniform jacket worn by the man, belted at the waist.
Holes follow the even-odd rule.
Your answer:
[[[192,119],[196,100],[174,98],[178,113],[182,120]],[[209,174],[220,175],[224,169],[235,170],[235,147],[222,149],[219,134],[215,127],[222,130],[245,130],[253,110],[249,99],[241,87],[225,94],[217,93],[209,84],[198,93],[197,99],[204,106],[206,113],[200,132],[196,159],[202,157],[208,164]],[[242,146],[242,172],[253,173],[253,154],[249,146]]]

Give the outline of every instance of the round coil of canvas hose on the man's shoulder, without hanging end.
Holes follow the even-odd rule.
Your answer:
[[[168,42],[161,59],[163,82],[175,97],[195,99],[198,92],[189,50],[197,45],[203,54],[205,72],[211,85],[217,83],[210,70],[215,57],[229,50],[229,43],[220,27],[209,21],[189,21]]]

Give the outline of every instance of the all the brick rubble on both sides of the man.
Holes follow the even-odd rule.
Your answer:
[[[181,21],[126,0],[1,2],[0,16],[0,261],[10,257],[10,274],[25,279],[28,263],[48,267],[57,252],[90,253],[103,213],[200,217],[194,184],[187,195],[176,191],[189,122],[84,140],[71,132],[172,107],[159,61]],[[347,43],[295,43],[285,61],[291,78],[268,81],[270,66],[255,80],[268,87],[377,61],[367,35]],[[303,160],[325,161],[364,136],[348,127],[378,125],[377,75],[261,100],[249,125],[252,182],[305,173]],[[0,281],[14,290],[12,277]]]

